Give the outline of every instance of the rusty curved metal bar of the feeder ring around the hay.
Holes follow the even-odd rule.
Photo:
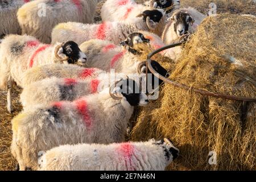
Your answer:
[[[212,93],[206,90],[200,90],[200,89],[196,89],[194,87],[189,87],[187,85],[183,85],[183,84],[179,84],[178,82],[172,81],[162,75],[159,75],[158,72],[155,71],[155,69],[152,67],[151,65],[151,57],[154,56],[156,53],[159,53],[161,51],[164,51],[165,49],[168,48],[172,48],[172,47],[176,47],[176,46],[180,46],[182,44],[186,43],[186,41],[180,42],[180,43],[175,43],[175,44],[170,44],[168,46],[164,46],[161,47],[159,49],[156,49],[155,51],[151,52],[150,54],[148,54],[147,56],[147,69],[149,69],[151,71],[151,73],[158,77],[160,80],[163,80],[165,82],[168,82],[169,84],[172,84],[174,86],[177,86],[181,89],[185,89],[185,90],[193,90],[196,93],[200,93],[202,95],[205,96],[212,96],[212,97],[218,97],[218,98],[224,98],[227,100],[235,100],[235,101],[245,101],[245,102],[256,102],[256,98],[249,98],[249,97],[237,97],[237,96],[231,96],[231,95],[227,95],[227,94],[220,94],[220,93]],[[146,71],[147,73],[147,71]],[[147,77],[147,76],[146,76]]]

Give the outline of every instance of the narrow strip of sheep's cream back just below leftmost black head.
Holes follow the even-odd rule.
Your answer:
[[[51,77],[85,80],[89,77],[95,78],[101,73],[104,73],[104,71],[97,68],[82,68],[72,64],[46,64],[24,72],[22,85],[23,88],[26,88],[36,81]]]

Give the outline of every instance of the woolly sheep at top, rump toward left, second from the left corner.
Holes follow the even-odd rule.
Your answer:
[[[93,23],[97,3],[101,0],[38,0],[26,3],[17,13],[22,34],[51,43],[51,31],[62,22]]]

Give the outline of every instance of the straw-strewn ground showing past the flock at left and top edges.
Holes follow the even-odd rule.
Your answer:
[[[95,17],[96,22],[101,21],[100,9],[104,2],[105,1],[98,4],[97,14]],[[144,2],[144,0],[138,0],[137,2],[141,3]],[[232,13],[255,15],[256,13],[255,0],[180,0],[180,2],[181,6],[195,7],[203,14],[207,14],[207,12],[209,11],[209,4],[211,2],[216,4],[217,14]],[[20,92],[21,89],[15,86],[13,92],[14,113],[9,114],[6,109],[6,91],[0,91],[0,170],[15,169],[16,162],[10,152],[10,144],[12,138],[11,119],[22,110],[22,107],[19,104]]]

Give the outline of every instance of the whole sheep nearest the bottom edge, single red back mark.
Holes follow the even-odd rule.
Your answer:
[[[163,171],[179,156],[164,138],[147,142],[76,144],[52,148],[39,158],[41,171]]]

